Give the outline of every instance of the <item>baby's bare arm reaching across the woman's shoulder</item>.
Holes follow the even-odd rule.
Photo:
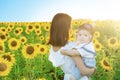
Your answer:
[[[64,55],[68,55],[68,56],[76,56],[76,55],[80,55],[80,53],[76,50],[76,49],[62,49],[61,53]]]

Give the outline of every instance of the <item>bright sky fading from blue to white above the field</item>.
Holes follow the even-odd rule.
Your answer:
[[[120,20],[120,0],[0,0],[0,22],[51,21],[59,12],[73,19]]]

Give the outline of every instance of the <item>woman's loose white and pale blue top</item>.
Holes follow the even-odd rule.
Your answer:
[[[82,77],[80,71],[77,68],[74,60],[67,55],[61,54],[61,49],[72,49],[73,43],[68,42],[64,47],[61,47],[58,51],[54,51],[53,47],[50,48],[49,61],[52,62],[54,67],[61,67],[65,74],[72,74],[76,79]],[[65,80],[65,78],[64,78]]]

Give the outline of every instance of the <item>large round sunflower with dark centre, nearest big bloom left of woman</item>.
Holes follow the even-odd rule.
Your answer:
[[[22,49],[22,54],[27,59],[33,59],[37,55],[36,49],[37,48],[34,45],[26,45]]]

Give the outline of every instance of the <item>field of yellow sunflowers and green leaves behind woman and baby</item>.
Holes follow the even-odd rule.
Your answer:
[[[120,80],[120,21],[72,21],[69,39],[79,25],[95,28],[97,70],[91,80]],[[48,61],[50,22],[0,22],[0,80],[63,80],[60,68]]]

